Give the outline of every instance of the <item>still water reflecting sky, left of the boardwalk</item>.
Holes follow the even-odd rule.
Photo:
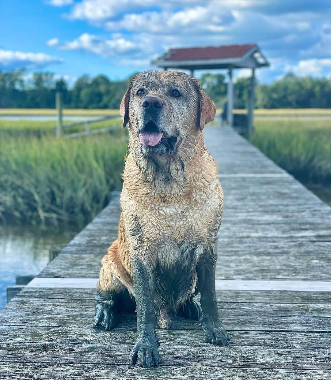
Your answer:
[[[38,274],[49,262],[49,250],[67,244],[76,233],[0,226],[0,309],[6,304],[6,288],[16,284],[16,276]]]

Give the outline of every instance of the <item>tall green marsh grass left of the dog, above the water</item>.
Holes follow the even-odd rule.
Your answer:
[[[79,139],[0,140],[0,213],[35,225],[83,226],[121,188],[125,131]]]

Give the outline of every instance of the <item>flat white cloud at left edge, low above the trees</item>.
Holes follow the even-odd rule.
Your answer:
[[[63,62],[62,58],[44,53],[30,53],[0,49],[0,68],[12,70],[19,67],[41,68],[50,63]]]

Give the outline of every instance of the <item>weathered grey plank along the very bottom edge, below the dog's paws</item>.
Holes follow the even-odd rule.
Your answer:
[[[129,365],[107,364],[75,364],[68,365],[49,363],[0,363],[3,379],[68,379],[81,380],[119,379],[146,380],[164,379],[217,379],[217,380],[326,380],[330,377],[328,370],[299,370],[299,369],[247,369],[247,368],[211,368],[206,366],[169,367],[161,366],[157,369],[142,369]]]

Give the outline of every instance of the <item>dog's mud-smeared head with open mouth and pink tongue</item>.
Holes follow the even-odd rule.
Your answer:
[[[215,117],[199,82],[178,71],[150,70],[130,81],[121,102],[123,126],[145,156],[173,154]],[[189,139],[192,141],[192,139]]]

